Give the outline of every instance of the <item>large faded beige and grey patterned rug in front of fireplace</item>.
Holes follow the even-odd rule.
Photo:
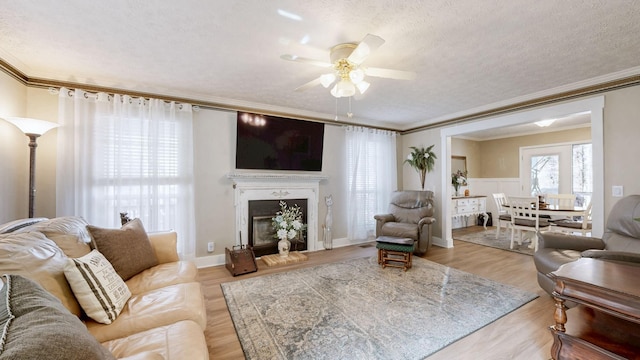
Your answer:
[[[537,297],[414,257],[376,257],[221,285],[247,359],[422,359]]]

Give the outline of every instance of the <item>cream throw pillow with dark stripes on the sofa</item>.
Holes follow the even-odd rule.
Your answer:
[[[84,312],[99,323],[111,324],[131,297],[127,284],[98,250],[67,260],[64,275]]]

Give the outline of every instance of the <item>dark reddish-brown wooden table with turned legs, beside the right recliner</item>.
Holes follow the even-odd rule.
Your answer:
[[[640,359],[640,264],[583,258],[550,275],[553,359]]]

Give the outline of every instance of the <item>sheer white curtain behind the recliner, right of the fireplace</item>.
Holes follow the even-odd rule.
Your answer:
[[[347,236],[374,236],[376,214],[386,213],[397,190],[396,133],[347,126]]]

